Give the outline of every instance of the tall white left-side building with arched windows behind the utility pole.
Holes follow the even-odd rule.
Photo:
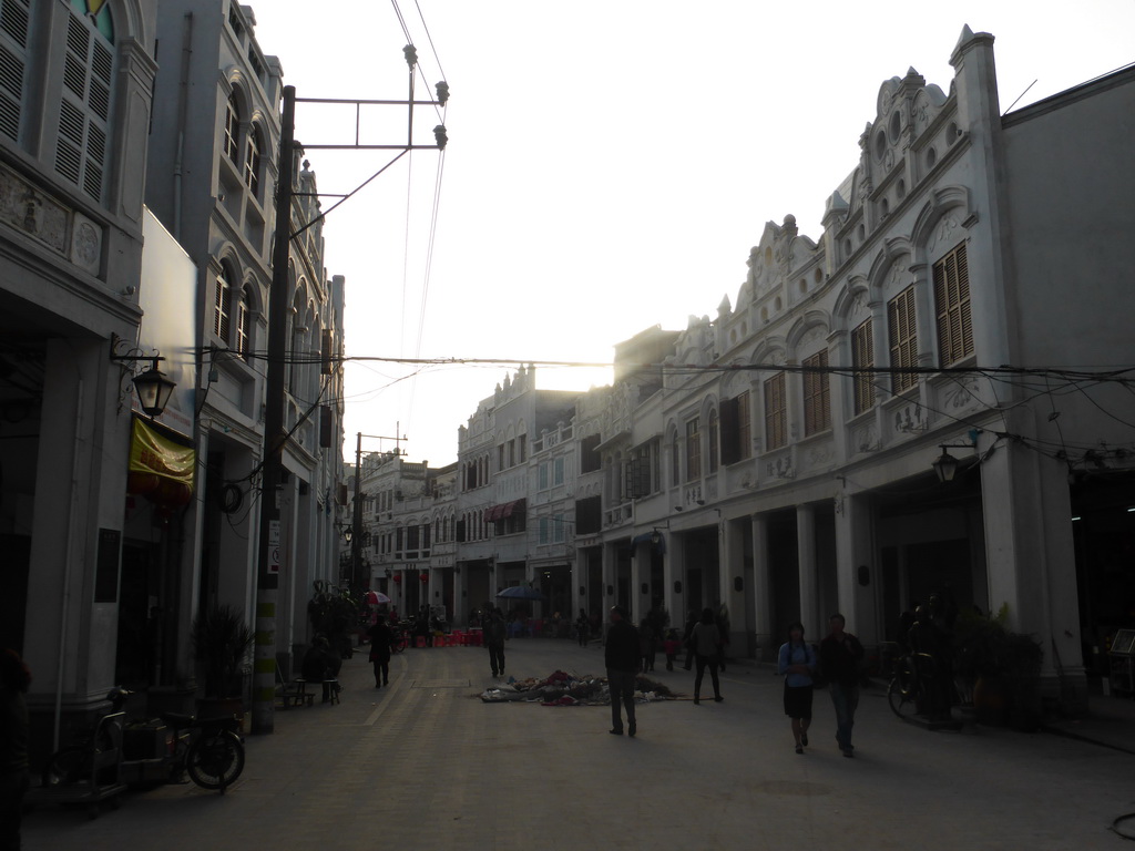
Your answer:
[[[161,0],[146,196],[199,269],[196,445],[179,606],[235,607],[252,624],[260,540],[268,301],[276,229],[283,69],[255,37],[255,16],[233,0]],[[285,477],[280,499],[277,657],[287,675],[308,643],[312,583],[334,581],[336,500],[343,481],[342,370],[345,281],[323,267],[316,174],[292,152],[294,199],[287,270]],[[192,682],[182,648],[169,685]]]

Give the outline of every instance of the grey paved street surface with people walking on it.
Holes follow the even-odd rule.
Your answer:
[[[602,650],[514,640],[508,673],[602,673]],[[659,656],[659,658],[662,658]],[[817,694],[812,748],[792,749],[781,680],[730,665],[725,702],[639,707],[636,739],[606,707],[487,705],[479,648],[410,650],[375,690],[362,655],[340,706],[276,713],[225,797],[131,793],[118,811],[42,808],[27,849],[1123,849],[1135,756],[1051,734],[928,733],[864,696],[857,758]],[[689,693],[692,675],[654,675]],[[708,683],[707,683],[708,686]],[[709,691],[708,688],[705,691]]]

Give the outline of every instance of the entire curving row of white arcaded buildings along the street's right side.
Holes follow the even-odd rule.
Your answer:
[[[1007,606],[1083,696],[1135,625],[1135,70],[1002,116],[993,37],[950,61],[949,91],[883,83],[822,238],[766,225],[735,304],[620,344],[611,387],[520,370],[456,465],[369,457],[376,587],[457,623],[516,583],[545,617],[724,606],[762,658],[835,610],[877,648],[941,592]]]

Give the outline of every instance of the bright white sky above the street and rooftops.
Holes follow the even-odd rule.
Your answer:
[[[949,90],[968,24],[995,36],[1001,111],[1135,61],[1135,0],[938,5],[759,0],[260,0],[257,37],[299,98],[405,100],[414,151],[330,211],[328,276],[346,277],[355,359],[608,364],[655,325],[737,300],[767,221],[819,238],[885,79]],[[1019,100],[1018,100],[1019,98]],[[407,108],[360,112],[360,142],[403,144]],[[354,191],[397,151],[355,140],[353,107],[300,103],[319,191]],[[327,209],[336,199],[323,201]],[[442,466],[457,429],[515,368],[346,365],[344,456],[394,448]],[[607,368],[537,369],[586,390]]]

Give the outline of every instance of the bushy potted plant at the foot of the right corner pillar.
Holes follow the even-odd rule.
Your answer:
[[[1012,723],[1022,730],[1035,730],[1044,651],[1034,637],[1009,630],[1008,620],[1007,605],[997,615],[958,618],[956,673],[973,685],[980,724]]]

